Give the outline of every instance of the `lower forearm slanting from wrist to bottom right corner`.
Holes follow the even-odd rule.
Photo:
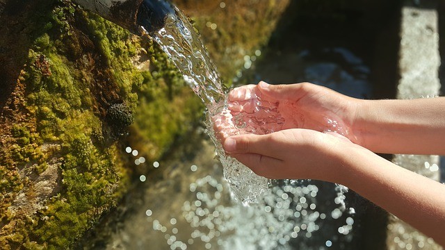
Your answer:
[[[445,246],[445,185],[366,149],[348,151],[341,183]]]

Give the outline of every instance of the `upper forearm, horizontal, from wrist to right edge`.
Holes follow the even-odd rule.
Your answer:
[[[359,101],[353,128],[374,152],[445,155],[445,97]]]

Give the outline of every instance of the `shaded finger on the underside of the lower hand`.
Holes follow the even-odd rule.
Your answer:
[[[266,178],[278,178],[277,169],[282,165],[282,160],[263,156],[257,153],[233,153],[230,156],[249,167],[252,172]]]

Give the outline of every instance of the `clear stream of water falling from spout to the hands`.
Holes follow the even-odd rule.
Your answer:
[[[224,107],[224,85],[191,23],[180,10],[175,12],[166,16],[159,30],[149,32],[141,26],[140,31],[159,44],[209,112],[216,114]]]

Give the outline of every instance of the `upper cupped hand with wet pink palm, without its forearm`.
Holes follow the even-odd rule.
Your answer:
[[[229,92],[229,110],[233,117],[241,114],[248,117],[248,121],[254,120],[266,127],[253,131],[257,134],[308,128],[337,132],[357,142],[353,121],[358,103],[357,99],[312,83],[269,85],[261,81],[258,85],[245,85]],[[263,122],[270,119],[270,113],[279,115]]]

